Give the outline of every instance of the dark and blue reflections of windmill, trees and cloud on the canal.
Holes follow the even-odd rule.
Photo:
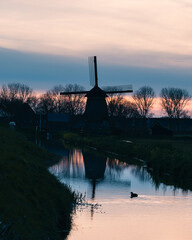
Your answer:
[[[182,193],[181,189],[160,183],[142,166],[128,165],[118,159],[81,149],[49,146],[49,150],[62,156],[50,171],[73,190],[86,193],[88,199],[113,198],[116,195],[128,198],[131,191],[140,195]]]

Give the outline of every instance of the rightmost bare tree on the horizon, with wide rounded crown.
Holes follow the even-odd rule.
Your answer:
[[[162,109],[170,118],[187,117],[185,106],[191,99],[185,89],[163,88],[160,93]]]

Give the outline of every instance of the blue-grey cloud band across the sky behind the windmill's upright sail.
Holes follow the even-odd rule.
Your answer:
[[[0,85],[22,82],[43,91],[59,84],[77,83],[90,89],[87,57],[74,58],[0,48]],[[163,87],[179,87],[192,94],[191,69],[112,64],[106,61],[105,56],[98,56],[98,74],[100,86],[132,84],[136,90],[149,85],[157,94]]]

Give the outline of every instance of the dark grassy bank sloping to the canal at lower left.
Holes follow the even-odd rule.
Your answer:
[[[59,240],[70,230],[73,194],[48,172],[53,161],[21,134],[0,127],[0,239]]]

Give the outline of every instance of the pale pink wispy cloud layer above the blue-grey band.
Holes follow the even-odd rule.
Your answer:
[[[191,67],[189,5],[187,0],[1,0],[0,46],[73,57],[99,54],[131,66]]]

